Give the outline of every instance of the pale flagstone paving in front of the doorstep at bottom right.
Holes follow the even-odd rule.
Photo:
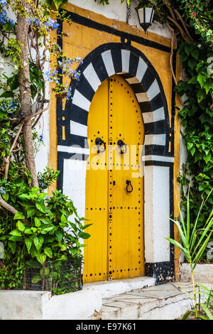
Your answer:
[[[209,284],[204,284],[208,286]],[[102,320],[174,320],[191,309],[189,282],[152,286],[111,296],[102,300]]]

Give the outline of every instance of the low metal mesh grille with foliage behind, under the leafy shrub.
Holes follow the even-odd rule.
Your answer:
[[[20,289],[50,291],[53,295],[79,291],[82,289],[82,259],[48,261],[43,266],[29,267],[24,271]]]

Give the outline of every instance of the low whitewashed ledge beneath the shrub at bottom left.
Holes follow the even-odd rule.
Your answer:
[[[51,297],[47,291],[0,290],[0,320],[89,320],[101,308],[99,291]]]

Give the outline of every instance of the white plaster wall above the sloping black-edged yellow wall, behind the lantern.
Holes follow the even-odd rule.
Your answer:
[[[107,18],[113,18],[118,21],[126,22],[126,1],[121,4],[120,0],[109,0],[109,5],[104,6],[102,4],[99,4],[99,0],[97,0],[97,2],[94,2],[94,0],[69,0],[68,2],[83,9],[94,11],[97,14],[102,14]],[[129,25],[136,26],[141,29],[135,10],[137,6],[138,1],[131,0],[131,18],[129,19]],[[171,38],[170,29],[161,25],[158,22],[153,22],[151,28],[149,28],[148,31],[157,33],[160,36]],[[148,38],[148,34],[146,38]]]

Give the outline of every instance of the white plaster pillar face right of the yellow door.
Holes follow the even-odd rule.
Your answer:
[[[144,239],[148,263],[170,261],[170,170],[145,166]]]

